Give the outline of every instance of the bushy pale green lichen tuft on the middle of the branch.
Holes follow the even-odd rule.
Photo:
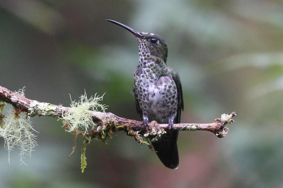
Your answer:
[[[102,111],[105,112],[107,109],[106,105],[100,104],[99,101],[102,101],[102,96],[91,96],[87,98],[87,94],[80,96],[78,102],[72,101],[71,99],[71,108],[67,112],[63,112],[60,119],[64,120],[64,123],[68,124],[68,132],[73,132],[75,129],[82,129],[87,132],[89,127],[93,128],[96,126],[96,123],[91,119],[91,111]],[[104,129],[104,127],[100,127]]]

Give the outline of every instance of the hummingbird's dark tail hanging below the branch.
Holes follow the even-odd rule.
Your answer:
[[[157,151],[160,161],[170,169],[177,169],[179,166],[179,155],[177,139],[179,131],[166,131],[166,135],[158,142],[152,142],[153,148]]]

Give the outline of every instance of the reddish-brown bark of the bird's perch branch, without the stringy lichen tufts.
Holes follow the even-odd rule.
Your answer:
[[[28,116],[34,117],[38,116],[62,116],[62,112],[65,113],[70,108],[52,105],[50,103],[40,103],[35,100],[31,100],[20,96],[19,94],[12,92],[5,87],[0,86],[0,101],[9,103],[13,105],[16,109],[20,109],[22,112],[26,112]],[[112,114],[110,112],[95,112],[89,111],[91,113],[91,119],[97,124],[97,129],[91,129],[87,132],[90,135],[90,138],[94,136],[99,136],[99,128],[104,127],[104,131],[127,131],[131,136],[139,136],[140,133],[146,133],[144,136],[161,136],[164,133],[164,130],[167,130],[167,124],[158,124],[156,121],[151,121],[149,123],[149,130],[146,127],[141,126],[140,121],[130,120],[126,118],[121,118]],[[174,124],[174,130],[180,131],[210,131],[213,132],[217,137],[224,137],[228,128],[225,127],[226,124],[234,122],[231,118],[236,116],[235,112],[232,112],[230,115],[222,114],[221,118],[215,119],[213,123],[209,124],[200,124],[200,123],[180,123]],[[99,127],[100,126],[100,127]],[[68,123],[65,125],[65,128],[68,128]],[[163,130],[163,132],[162,132]],[[78,130],[79,133],[85,134],[85,131]],[[138,133],[137,133],[138,132]],[[137,139],[138,140],[138,139]]]

